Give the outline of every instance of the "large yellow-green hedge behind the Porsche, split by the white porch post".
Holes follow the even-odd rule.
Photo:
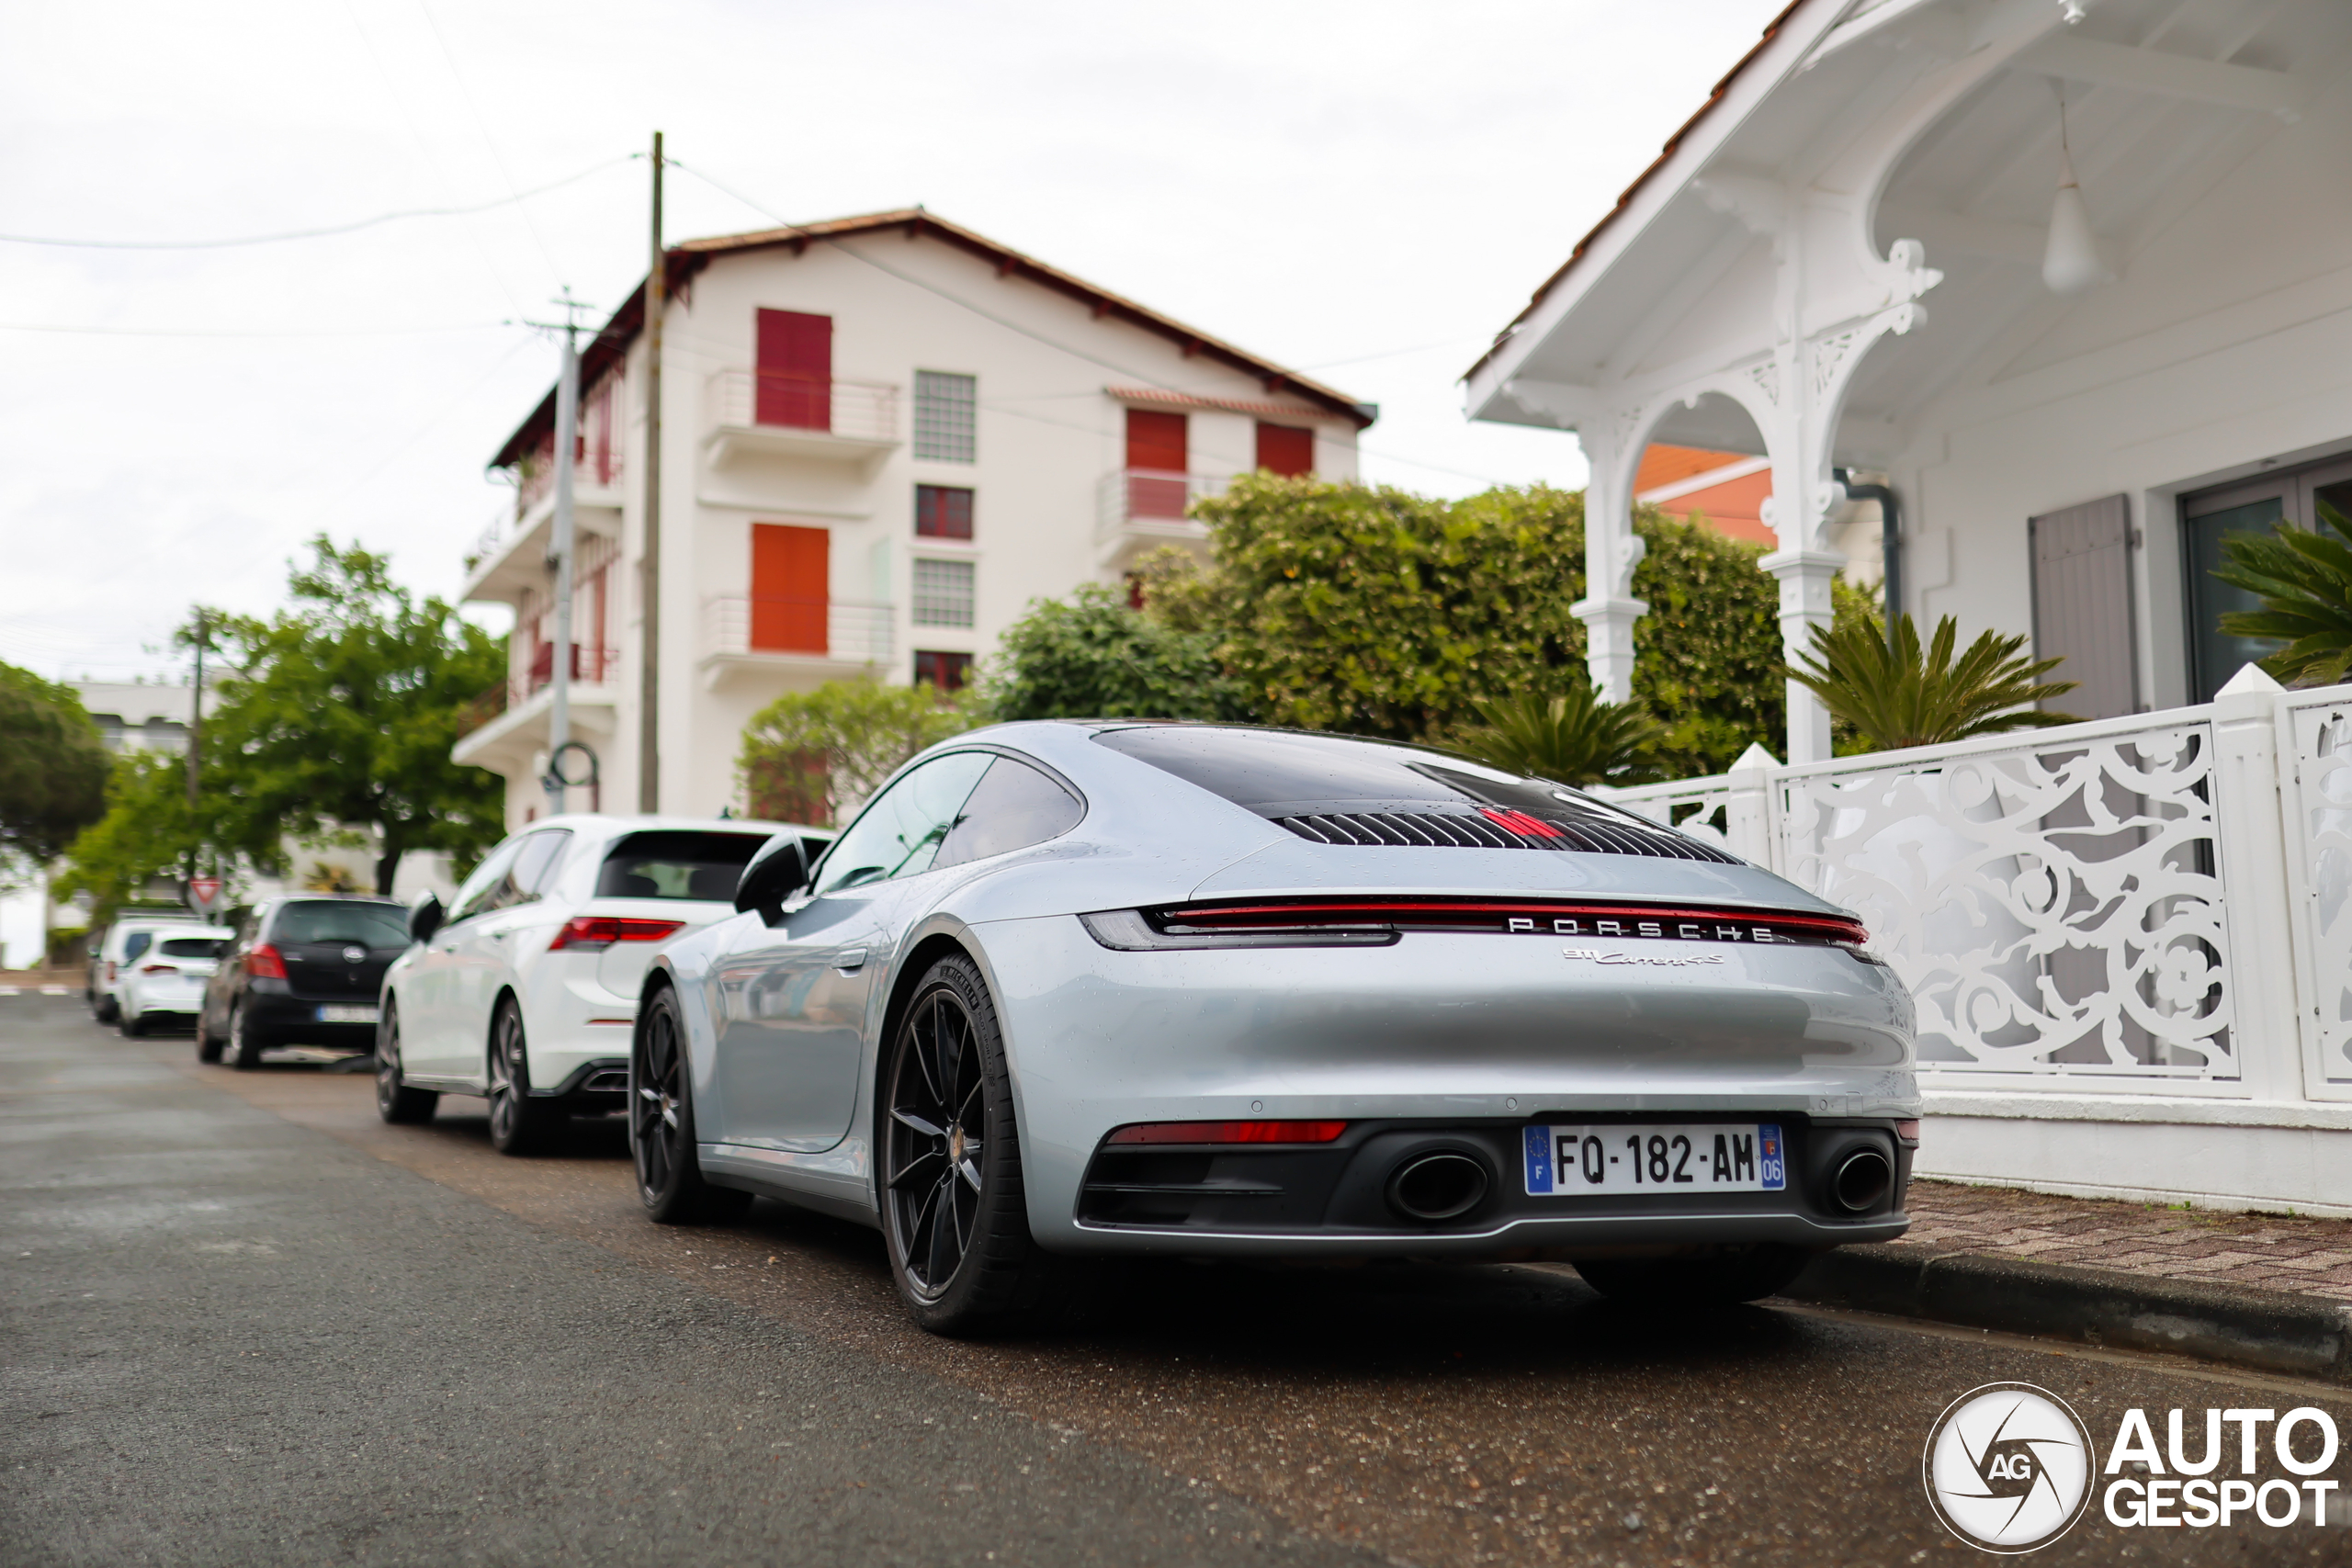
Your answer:
[[[1145,562],[1145,614],[1216,637],[1268,724],[1442,741],[1479,705],[1583,679],[1583,496],[1432,501],[1388,487],[1237,480],[1195,512],[1216,564]],[[1635,701],[1670,776],[1731,766],[1785,712],[1778,583],[1759,550],[1639,508]],[[1160,578],[1152,576],[1160,567]]]

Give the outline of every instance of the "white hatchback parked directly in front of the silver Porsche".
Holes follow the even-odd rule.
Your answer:
[[[445,1093],[487,1095],[489,1135],[527,1152],[574,1114],[628,1100],[637,985],[654,950],[734,914],[753,853],[793,823],[550,816],[482,860],[383,976],[376,1110],[426,1121]]]

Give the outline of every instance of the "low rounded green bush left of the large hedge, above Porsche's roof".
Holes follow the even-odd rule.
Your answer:
[[[995,719],[1242,719],[1216,639],[1141,616],[1101,583],[1007,628],[978,691]]]

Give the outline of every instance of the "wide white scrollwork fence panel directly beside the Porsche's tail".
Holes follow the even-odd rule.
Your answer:
[[[1780,780],[1785,875],[1863,914],[1924,1070],[2239,1077],[2213,726],[2100,731]]]

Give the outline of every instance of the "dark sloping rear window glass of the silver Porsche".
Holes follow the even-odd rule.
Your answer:
[[[1616,823],[1639,820],[1583,790],[1543,778],[1515,778],[1465,757],[1348,736],[1138,724],[1105,729],[1094,738],[1265,818],[1501,806],[1545,818],[1569,813]],[[1651,827],[1651,823],[1639,825]]]

